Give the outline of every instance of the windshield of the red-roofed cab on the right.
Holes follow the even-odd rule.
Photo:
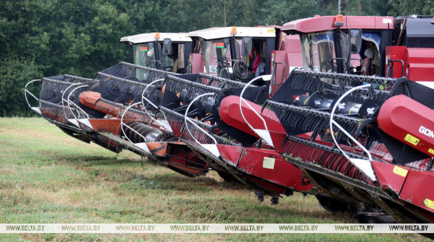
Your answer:
[[[339,32],[344,42],[346,34]],[[305,70],[336,72],[336,51],[334,49],[333,30],[300,34],[301,54]],[[342,55],[347,53],[346,44],[339,44]],[[342,56],[345,57],[345,56]],[[345,57],[346,58],[346,57]]]

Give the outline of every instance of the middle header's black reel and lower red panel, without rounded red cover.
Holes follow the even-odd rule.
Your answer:
[[[259,142],[257,135],[221,120],[222,99],[240,95],[242,91],[247,100],[263,103],[268,96],[266,86],[250,86],[244,90],[245,84],[241,82],[203,74],[196,76],[166,78],[159,110],[161,119],[169,122],[175,136],[189,144],[223,178],[228,178],[224,174],[228,173],[274,197],[290,195],[293,191],[314,192],[313,185],[301,172],[269,145]]]

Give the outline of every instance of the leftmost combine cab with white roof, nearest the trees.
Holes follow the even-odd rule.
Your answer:
[[[122,37],[120,42],[131,45],[136,65],[186,74],[192,42],[188,33],[142,33]]]

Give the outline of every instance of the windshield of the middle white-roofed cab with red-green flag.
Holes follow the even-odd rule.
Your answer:
[[[232,61],[240,60],[241,39],[220,38],[202,40],[204,72],[222,78],[229,78],[232,73]],[[235,52],[235,53],[231,53]]]

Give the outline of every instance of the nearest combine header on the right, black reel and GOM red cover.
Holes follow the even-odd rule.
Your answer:
[[[316,83],[311,86],[319,89],[304,86],[295,94],[300,87],[296,75],[310,77]],[[432,125],[428,116],[434,107],[426,97],[434,90],[406,78],[393,84],[391,79],[363,77],[360,83],[369,84],[344,87],[336,94],[324,83],[351,78],[357,76],[293,71],[266,103],[288,135],[276,150],[345,204],[371,206],[402,223],[431,223],[433,211],[427,205],[434,195],[414,188],[417,181],[434,177],[429,152],[434,143],[426,128]],[[385,90],[372,88],[378,85]],[[305,132],[311,136],[297,136]]]

